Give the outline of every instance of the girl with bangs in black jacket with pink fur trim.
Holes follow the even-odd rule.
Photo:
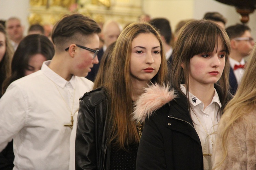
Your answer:
[[[136,169],[211,169],[213,134],[232,97],[229,38],[214,22],[194,20],[173,51],[171,87],[150,86],[135,103],[133,118],[145,121]]]

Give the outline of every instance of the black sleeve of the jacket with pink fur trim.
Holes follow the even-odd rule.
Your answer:
[[[166,167],[164,142],[159,130],[156,111],[146,119],[136,160],[138,170],[164,170]]]

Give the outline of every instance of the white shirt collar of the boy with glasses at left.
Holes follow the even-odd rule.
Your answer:
[[[71,84],[73,88],[75,88],[75,84],[76,84],[75,76],[73,75],[69,81],[65,80],[64,78],[59,76],[57,73],[55,73],[51,68],[48,67],[50,63],[51,63],[51,60],[43,62],[43,65],[41,68],[43,74],[61,88],[64,88],[68,82]]]

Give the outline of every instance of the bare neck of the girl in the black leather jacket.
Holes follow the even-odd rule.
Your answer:
[[[133,101],[137,101],[138,97],[144,93],[144,88],[147,87],[149,80],[147,81],[140,81],[137,79],[132,79],[131,83],[132,83],[132,100]]]

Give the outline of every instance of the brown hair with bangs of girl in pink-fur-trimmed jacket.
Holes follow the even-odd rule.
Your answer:
[[[221,94],[219,94],[222,104],[221,113],[227,103],[227,95],[229,92],[229,62],[228,56],[230,53],[230,42],[226,31],[208,20],[194,20],[188,22],[181,29],[176,45],[173,49],[173,64],[171,68],[171,82],[173,87],[183,94],[180,84],[185,84],[187,101],[188,101],[188,72],[190,59],[198,54],[212,52],[218,43],[222,44],[223,50],[226,51],[225,66],[221,78],[217,84],[220,86]],[[183,63],[184,68],[181,67]],[[189,104],[189,101],[188,101]],[[190,105],[188,105],[190,111]],[[219,112],[218,112],[219,113]]]

